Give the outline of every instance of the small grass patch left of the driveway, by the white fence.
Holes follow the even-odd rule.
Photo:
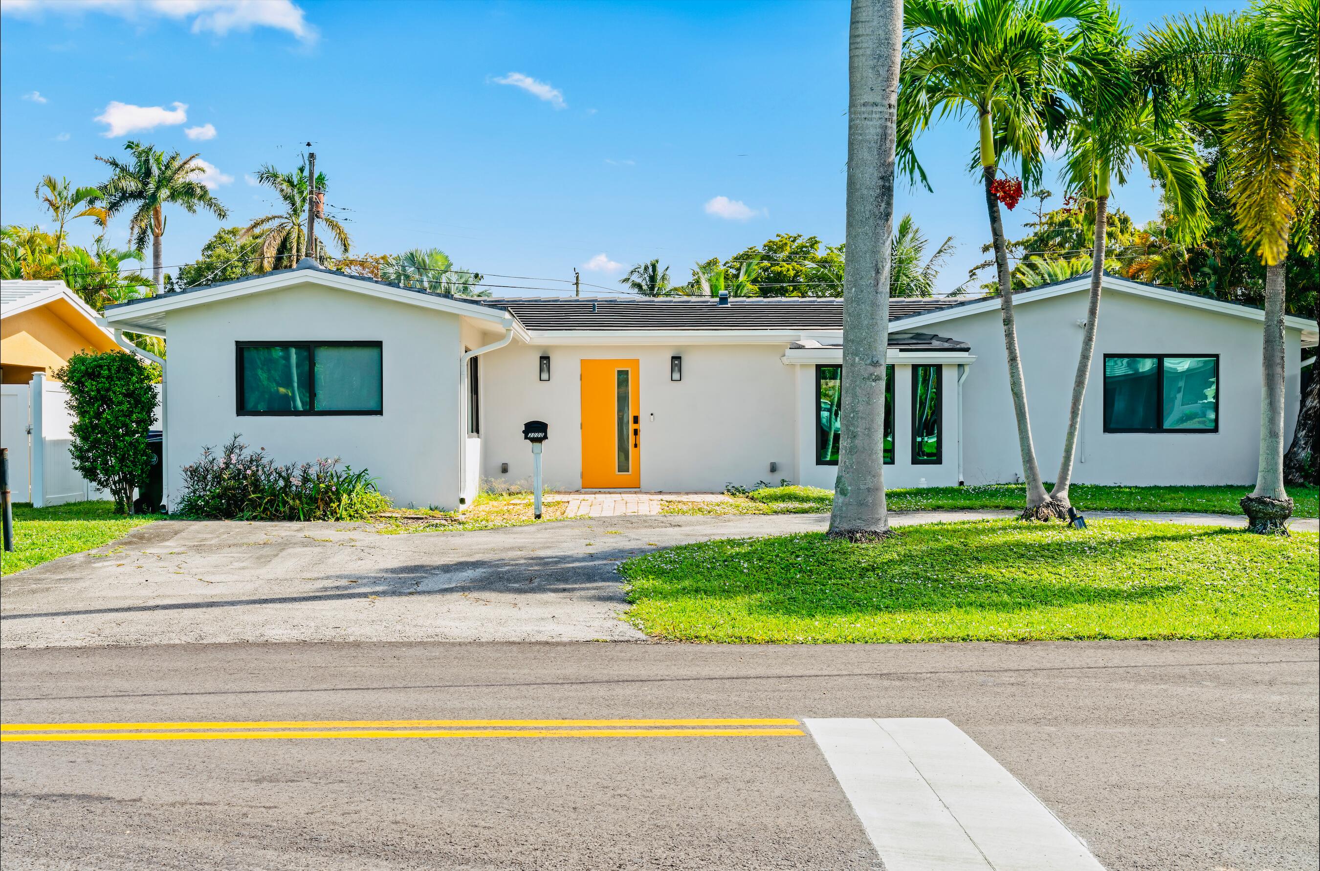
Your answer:
[[[13,553],[0,556],[0,571],[12,574],[50,560],[99,548],[129,529],[164,515],[115,513],[112,501],[71,501],[49,508],[13,505]]]

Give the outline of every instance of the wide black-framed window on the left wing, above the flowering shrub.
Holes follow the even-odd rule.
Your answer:
[[[236,342],[240,416],[380,414],[380,342]]]

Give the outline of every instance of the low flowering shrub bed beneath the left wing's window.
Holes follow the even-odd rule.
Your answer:
[[[277,466],[238,435],[183,467],[180,498],[182,513],[218,520],[363,520],[388,507],[367,470],[341,468],[338,458]]]

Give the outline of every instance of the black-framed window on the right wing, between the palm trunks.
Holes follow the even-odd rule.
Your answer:
[[[1220,432],[1217,354],[1106,354],[1106,433]]]

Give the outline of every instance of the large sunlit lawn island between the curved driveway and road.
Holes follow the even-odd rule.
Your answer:
[[[1315,533],[1096,520],[906,527],[659,550],[619,571],[639,629],[682,641],[1312,637]]]

